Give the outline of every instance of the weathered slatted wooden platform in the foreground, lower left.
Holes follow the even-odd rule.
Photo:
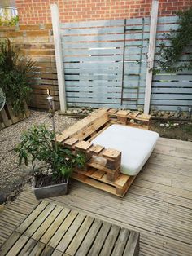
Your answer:
[[[137,256],[139,233],[41,201],[2,245],[4,255]]]

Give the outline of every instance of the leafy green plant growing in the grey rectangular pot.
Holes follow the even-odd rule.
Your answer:
[[[19,155],[19,164],[24,161],[28,166],[30,160],[33,165],[34,174],[51,170],[55,179],[62,176],[68,178],[74,167],[85,166],[85,156],[82,153],[73,154],[68,148],[63,148],[60,143],[54,143],[55,133],[47,130],[46,126],[33,126],[21,136],[21,142],[15,148]],[[36,168],[36,163],[42,166]]]

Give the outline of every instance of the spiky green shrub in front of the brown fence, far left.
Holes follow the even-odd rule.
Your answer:
[[[22,55],[19,47],[11,45],[10,40],[0,42],[0,88],[15,114],[24,113],[24,100],[31,91],[29,82],[33,67],[34,62]]]

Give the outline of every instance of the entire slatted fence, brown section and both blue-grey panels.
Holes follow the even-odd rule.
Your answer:
[[[157,65],[159,44],[164,33],[177,29],[177,17],[159,17],[155,48]],[[146,54],[149,18],[99,20],[61,24],[63,64],[68,106],[132,108],[144,104]],[[0,39],[20,44],[26,55],[36,61],[29,106],[48,108],[46,88],[55,96],[59,91],[51,24],[1,27]],[[168,41],[164,40],[168,45]],[[181,61],[185,60],[189,46]],[[151,106],[161,110],[188,110],[192,105],[192,72],[153,76]]]

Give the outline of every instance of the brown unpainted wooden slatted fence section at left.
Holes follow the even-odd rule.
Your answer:
[[[20,27],[1,27],[0,40],[10,38],[20,45],[24,54],[36,61],[36,74],[32,84],[33,93],[29,106],[48,108],[46,88],[55,97],[55,108],[59,109],[59,92],[55,68],[55,50],[52,25],[20,25]]]

